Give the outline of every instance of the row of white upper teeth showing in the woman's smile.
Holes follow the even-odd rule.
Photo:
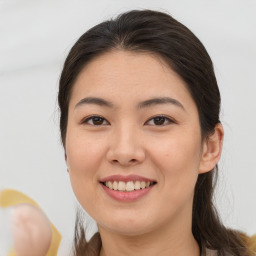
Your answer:
[[[139,190],[139,189],[144,189],[148,188],[150,186],[150,181],[107,181],[104,183],[106,187],[113,189],[113,190],[118,190],[118,191],[134,191],[134,190]]]

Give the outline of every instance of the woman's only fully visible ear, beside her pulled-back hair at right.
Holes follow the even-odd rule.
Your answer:
[[[221,123],[218,123],[215,126],[214,132],[205,138],[199,165],[199,173],[211,171],[218,163],[221,156],[223,136],[223,127]]]

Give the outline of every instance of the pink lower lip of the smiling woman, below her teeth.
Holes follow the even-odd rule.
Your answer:
[[[139,190],[134,190],[134,191],[130,191],[130,192],[123,192],[123,191],[118,191],[118,190],[112,190],[108,187],[106,187],[105,185],[103,185],[102,183],[100,183],[102,188],[105,190],[105,192],[113,199],[117,200],[117,201],[121,201],[121,202],[132,202],[132,201],[136,201],[139,198],[142,198],[143,196],[145,196],[153,187],[154,185],[151,185],[148,188],[144,188],[144,189],[139,189]]]

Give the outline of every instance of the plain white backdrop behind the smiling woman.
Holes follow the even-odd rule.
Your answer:
[[[256,233],[256,1],[0,0],[0,189],[41,205],[63,235],[59,255],[76,206],[58,130],[63,61],[88,28],[142,8],[173,15],[211,55],[225,128],[217,206],[227,226]]]

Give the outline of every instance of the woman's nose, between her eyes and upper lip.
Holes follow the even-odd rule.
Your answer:
[[[109,141],[107,160],[111,164],[129,167],[145,160],[142,138],[132,127],[113,131]]]

